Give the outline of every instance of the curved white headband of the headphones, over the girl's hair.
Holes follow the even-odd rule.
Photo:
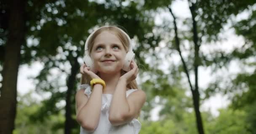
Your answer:
[[[87,38],[86,41],[85,41],[85,55],[89,55],[88,43],[89,43],[89,40],[91,39],[91,36],[93,36],[93,34],[94,34],[96,31],[98,31],[99,29],[101,29],[101,28],[109,28],[109,27],[115,27],[115,26],[102,26],[102,27],[96,29],[95,31],[93,31],[93,32],[88,36],[88,38]],[[128,36],[128,34],[125,33],[125,31],[123,31],[121,28],[118,28],[118,27],[115,27],[115,28],[117,28],[117,29],[120,30],[123,34],[125,34],[125,36],[126,36],[127,39],[128,39],[128,42],[129,42],[129,51],[133,51],[133,46],[132,46],[132,44],[131,44],[131,38]]]

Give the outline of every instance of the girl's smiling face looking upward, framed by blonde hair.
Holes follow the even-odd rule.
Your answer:
[[[120,39],[112,32],[103,31],[94,40],[91,57],[96,71],[112,74],[120,72],[126,51]]]

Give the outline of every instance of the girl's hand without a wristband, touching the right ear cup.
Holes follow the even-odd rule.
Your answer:
[[[127,84],[130,83],[132,80],[135,80],[139,72],[138,66],[133,60],[131,61],[130,67],[131,70],[120,77],[120,80],[125,80]]]

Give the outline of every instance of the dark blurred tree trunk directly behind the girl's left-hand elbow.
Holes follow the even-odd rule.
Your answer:
[[[76,83],[76,75],[77,75],[77,70],[79,70],[79,63],[77,62],[77,57],[69,60],[71,64],[71,74],[68,77],[67,80],[67,97],[66,97],[66,106],[65,106],[65,134],[71,134],[71,129],[73,124],[73,120],[71,117],[71,96],[73,95],[73,92],[75,90],[75,83]],[[73,63],[73,64],[72,64]]]

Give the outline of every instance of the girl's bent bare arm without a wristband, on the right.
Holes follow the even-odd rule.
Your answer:
[[[143,90],[137,90],[126,98],[127,80],[120,77],[113,94],[109,110],[109,121],[112,125],[121,125],[135,118],[146,101]]]

